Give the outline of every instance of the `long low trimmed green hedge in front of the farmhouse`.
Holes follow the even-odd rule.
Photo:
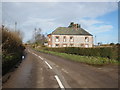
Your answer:
[[[76,54],[82,56],[105,57],[109,59],[118,60],[118,47],[99,47],[99,48],[79,48],[79,47],[65,47],[65,48],[44,48],[48,51],[61,52],[67,54]]]

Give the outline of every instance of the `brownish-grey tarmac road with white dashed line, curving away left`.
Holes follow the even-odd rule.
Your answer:
[[[26,49],[26,57],[3,88],[117,88],[118,68],[94,67]]]

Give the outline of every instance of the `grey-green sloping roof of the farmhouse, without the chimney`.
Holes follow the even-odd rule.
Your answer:
[[[69,27],[58,27],[54,30],[52,35],[90,35],[89,32],[85,31],[83,28],[69,28]]]

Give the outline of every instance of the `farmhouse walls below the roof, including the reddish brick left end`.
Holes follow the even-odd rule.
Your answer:
[[[56,37],[59,37],[59,41],[56,41]],[[66,42],[64,42],[66,37]],[[73,37],[73,42],[70,41],[70,37]],[[85,40],[88,38],[88,42]],[[92,47],[93,36],[89,35],[51,35],[48,37],[48,47]],[[57,44],[57,45],[56,45]]]

